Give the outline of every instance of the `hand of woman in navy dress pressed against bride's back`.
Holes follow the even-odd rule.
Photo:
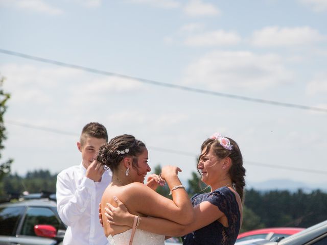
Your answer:
[[[114,207],[110,203],[106,204],[107,207],[104,210],[108,218],[107,222],[110,225],[133,227],[135,215],[129,213],[126,206],[118,198],[113,197],[113,200],[118,204],[118,207]]]

